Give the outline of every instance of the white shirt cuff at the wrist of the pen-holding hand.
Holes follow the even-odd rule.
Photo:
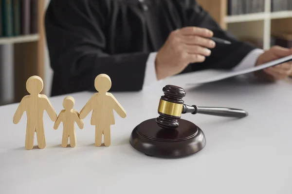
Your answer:
[[[143,88],[157,82],[155,60],[157,52],[151,52],[146,62]]]

